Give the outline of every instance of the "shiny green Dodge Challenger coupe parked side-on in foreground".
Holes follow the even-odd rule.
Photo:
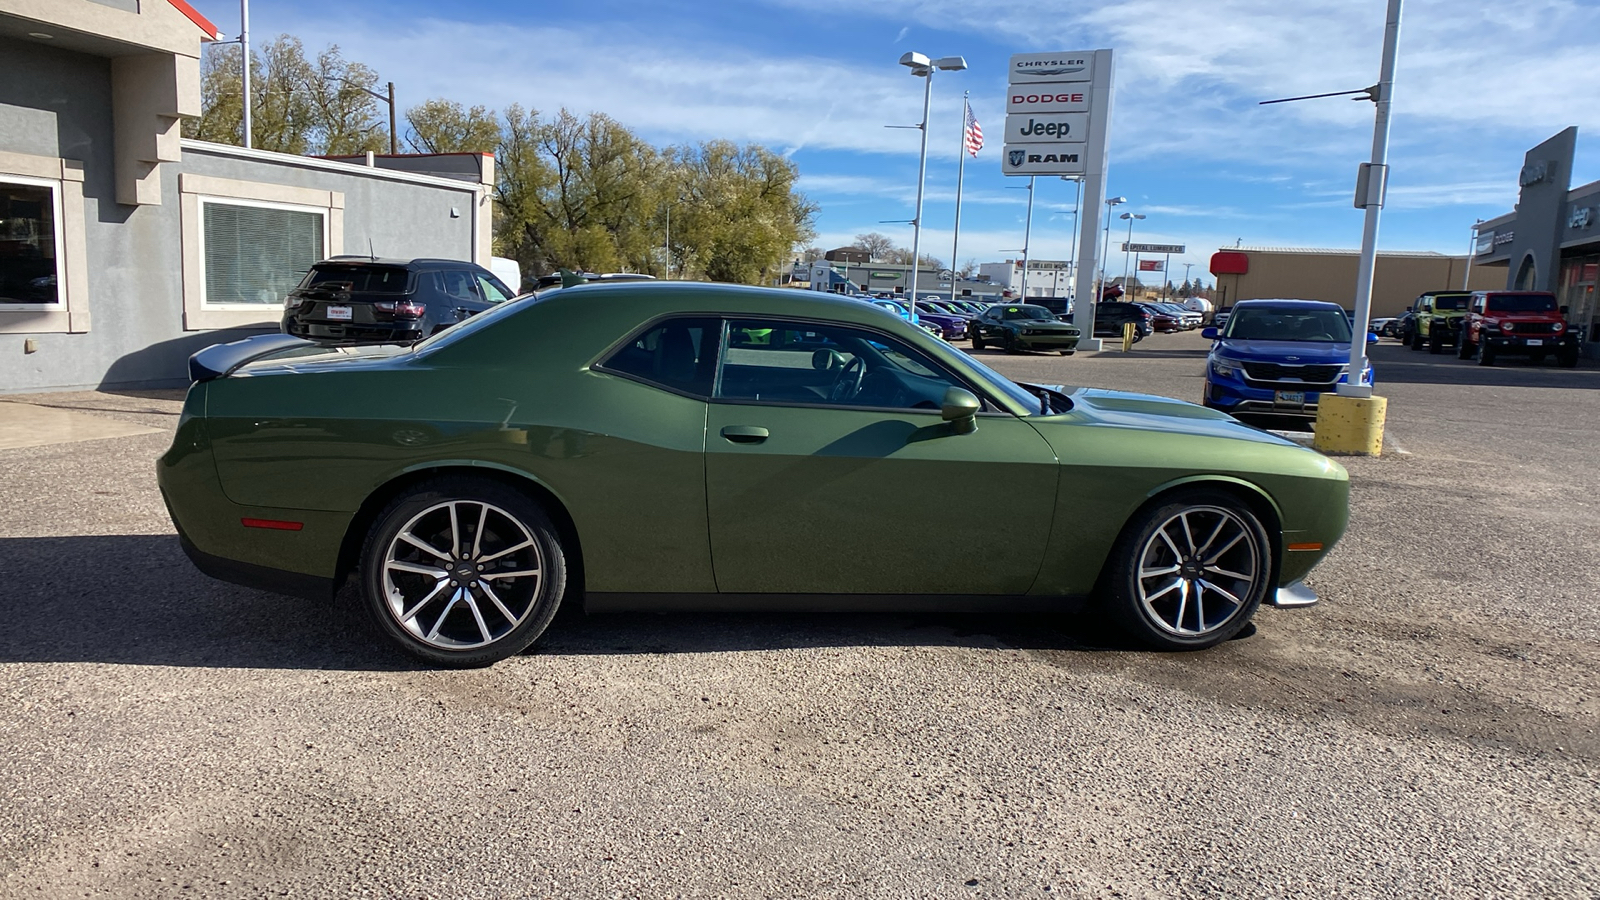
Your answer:
[[[1200,649],[1347,519],[1338,463],[1192,404],[1018,384],[882,309],[584,285],[414,346],[190,359],[162,495],[206,573],[357,578],[406,652],[483,666],[589,610],[997,610],[1090,597]],[[962,554],[928,548],[963,548]]]

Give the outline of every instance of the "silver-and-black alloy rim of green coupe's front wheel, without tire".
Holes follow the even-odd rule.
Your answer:
[[[1179,637],[1218,631],[1266,578],[1254,532],[1230,509],[1190,506],[1157,527],[1138,556],[1139,602],[1152,625]]]

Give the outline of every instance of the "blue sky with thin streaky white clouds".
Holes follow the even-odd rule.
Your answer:
[[[230,37],[232,0],[195,3]],[[338,43],[394,80],[402,106],[606,112],[658,143],[728,138],[789,154],[821,205],[816,243],[882,231],[910,245],[922,82],[901,53],[962,54],[934,80],[925,250],[949,261],[960,98],[987,135],[968,159],[960,261],[1016,256],[1027,192],[1000,175],[1011,53],[1114,48],[1112,195],[1134,240],[1218,247],[1360,243],[1350,207],[1371,149],[1384,0],[254,0],[251,35]],[[1475,218],[1512,208],[1522,154],[1579,127],[1573,183],[1600,178],[1600,2],[1410,0],[1400,35],[1381,250],[1464,253]],[[1074,186],[1040,179],[1034,258],[1070,255]],[[1123,223],[1117,223],[1122,226]],[[1115,232],[1117,229],[1114,229]],[[1125,235],[1126,232],[1123,232]],[[1110,267],[1120,255],[1114,234]],[[1174,280],[1176,280],[1174,279]],[[1210,280],[1210,275],[1206,275]]]

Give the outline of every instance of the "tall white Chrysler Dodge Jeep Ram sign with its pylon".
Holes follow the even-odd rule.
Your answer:
[[[1090,296],[1099,250],[1094,232],[1106,199],[1112,51],[1021,53],[1011,58],[1008,72],[1000,171],[1082,176],[1082,205],[1093,210],[1096,219],[1091,227],[1080,229],[1074,295]],[[1026,272],[1024,267],[1024,277]],[[1078,309],[1074,322],[1083,331],[1078,349],[1098,351],[1094,303]]]

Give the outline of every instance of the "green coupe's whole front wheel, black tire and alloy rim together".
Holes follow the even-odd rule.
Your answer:
[[[1146,509],[1112,548],[1112,615],[1157,650],[1202,650],[1240,633],[1272,580],[1267,532],[1248,506],[1192,490]]]

